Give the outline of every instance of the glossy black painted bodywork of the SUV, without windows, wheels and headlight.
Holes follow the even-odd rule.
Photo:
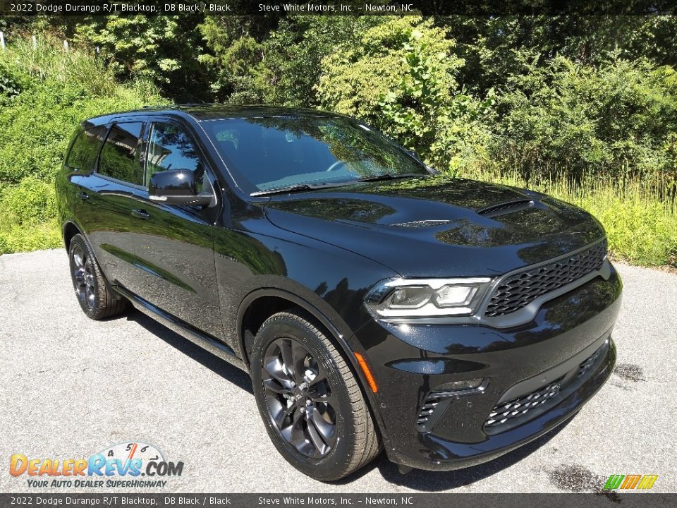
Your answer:
[[[609,337],[621,282],[608,261],[604,274],[547,301],[530,322],[507,329],[480,322],[392,325],[374,320],[363,300],[389,277],[495,277],[556,258],[603,238],[599,223],[545,195],[432,174],[252,197],[200,126],[231,116],[313,114],[186,107],[84,122],[82,128],[100,128],[101,140],[105,126],[119,119],[177,123],[200,147],[214,202],[191,207],[151,200],[147,188],[97,174],[93,155],[87,167],[64,165],[56,181],[66,242],[73,232],[85,234],[109,282],[137,308],[245,369],[256,332],[251,323],[260,324],[257,313],[279,310],[285,302],[305,308],[343,348],[386,452],[399,464],[470,466],[535,439],[578,411],[611,373],[611,342],[590,379],[555,409],[506,433],[482,430],[511,386]],[[431,222],[421,227],[421,221]],[[367,359],[377,393],[365,382],[355,351]],[[432,430],[415,428],[430,389],[475,377],[489,379],[483,393],[453,401]]]

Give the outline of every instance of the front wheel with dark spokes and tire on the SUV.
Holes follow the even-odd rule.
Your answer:
[[[358,380],[304,310],[277,313],[263,323],[251,368],[268,435],[299,471],[316,480],[338,480],[381,451]]]

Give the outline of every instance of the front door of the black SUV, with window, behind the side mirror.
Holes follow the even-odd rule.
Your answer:
[[[134,226],[136,262],[143,268],[136,291],[152,306],[213,337],[223,338],[214,268],[214,222],[221,196],[212,207],[164,205],[148,199],[150,176],[157,171],[195,171],[202,188],[212,191],[214,173],[190,126],[165,116],[149,116],[144,135],[144,190],[137,207],[145,212]]]

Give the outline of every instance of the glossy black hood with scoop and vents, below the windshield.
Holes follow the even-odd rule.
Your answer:
[[[371,258],[403,277],[504,274],[604,236],[599,222],[573,205],[446,176],[277,195],[265,210],[280,228]]]

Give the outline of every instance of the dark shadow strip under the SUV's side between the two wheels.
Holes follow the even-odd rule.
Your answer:
[[[231,365],[225,360],[222,360],[218,356],[214,356],[209,351],[202,349],[200,346],[193,344],[190,340],[182,337],[173,330],[167,328],[164,325],[161,325],[156,320],[148,317],[147,315],[140,313],[138,311],[131,311],[126,315],[126,318],[129,321],[133,321],[138,325],[144,327],[152,334],[156,335],[160,339],[164,340],[170,346],[178,349],[181,353],[186,356],[190,356],[193,360],[201,363],[209,370],[212,370],[213,373],[216,373],[223,377],[226,381],[233,383],[237,387],[245,390],[250,394],[254,394],[252,391],[252,380],[247,373],[243,370],[240,370],[234,365]]]

